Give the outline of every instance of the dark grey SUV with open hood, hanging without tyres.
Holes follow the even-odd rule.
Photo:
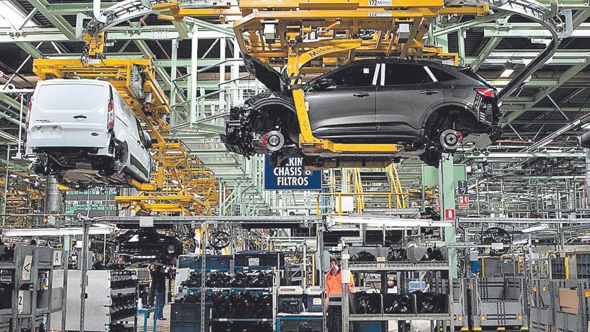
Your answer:
[[[335,143],[401,144],[404,150],[304,155],[286,77],[256,58],[244,55],[244,61],[270,90],[231,109],[222,141],[245,156],[271,154],[280,164],[298,155],[306,165],[322,167],[334,160],[387,164],[419,155],[438,166],[441,152],[455,151],[462,141],[485,147],[501,134],[496,89],[470,69],[434,61],[359,60],[304,85],[312,133]]]

